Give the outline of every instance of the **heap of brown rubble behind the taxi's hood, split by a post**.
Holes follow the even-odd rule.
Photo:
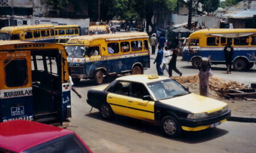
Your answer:
[[[173,76],[172,79],[175,79],[177,82],[179,82],[181,84],[183,84],[183,83],[199,84],[199,76],[198,75]],[[243,83],[230,81],[230,80],[226,80],[226,79],[222,79],[222,78],[217,78],[215,76],[210,76],[209,87],[211,90],[246,88],[245,84],[243,84]]]

